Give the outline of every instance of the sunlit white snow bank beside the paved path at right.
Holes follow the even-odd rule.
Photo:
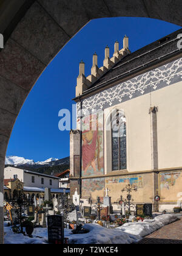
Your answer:
[[[160,229],[164,225],[177,221],[177,219],[178,216],[174,214],[159,215],[154,219],[144,219],[143,222],[126,223],[121,227],[116,227],[116,230],[121,230],[132,235],[143,237],[153,233],[155,230]]]

